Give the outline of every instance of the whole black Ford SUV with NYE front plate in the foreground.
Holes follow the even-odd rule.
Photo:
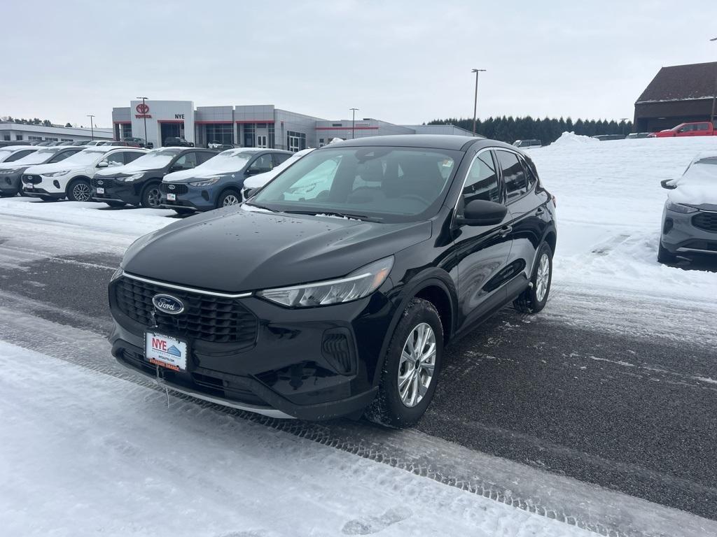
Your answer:
[[[511,301],[543,309],[555,243],[554,198],[511,145],[337,142],[130,246],[109,286],[112,350],[230,407],[412,425],[445,344]]]

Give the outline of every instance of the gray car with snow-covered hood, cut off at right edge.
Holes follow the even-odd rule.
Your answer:
[[[717,260],[717,154],[702,155],[682,177],[662,182],[665,201],[657,261],[713,256]]]

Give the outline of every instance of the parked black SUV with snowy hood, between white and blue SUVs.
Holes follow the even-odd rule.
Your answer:
[[[162,178],[171,172],[191,170],[217,155],[198,148],[162,147],[124,166],[107,168],[92,178],[92,200],[110,206],[141,205],[159,208]]]

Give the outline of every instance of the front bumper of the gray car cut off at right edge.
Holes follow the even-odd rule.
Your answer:
[[[695,227],[693,218],[699,214],[717,213],[698,211],[696,213],[676,213],[663,211],[663,228],[660,242],[665,250],[678,256],[717,255],[717,232]]]

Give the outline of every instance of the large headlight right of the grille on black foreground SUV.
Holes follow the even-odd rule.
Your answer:
[[[363,299],[364,296],[369,296],[379,289],[389,276],[392,266],[394,266],[394,256],[389,256],[353,271],[346,278],[280,289],[266,289],[257,294],[267,300],[292,308],[310,308],[350,302]]]

